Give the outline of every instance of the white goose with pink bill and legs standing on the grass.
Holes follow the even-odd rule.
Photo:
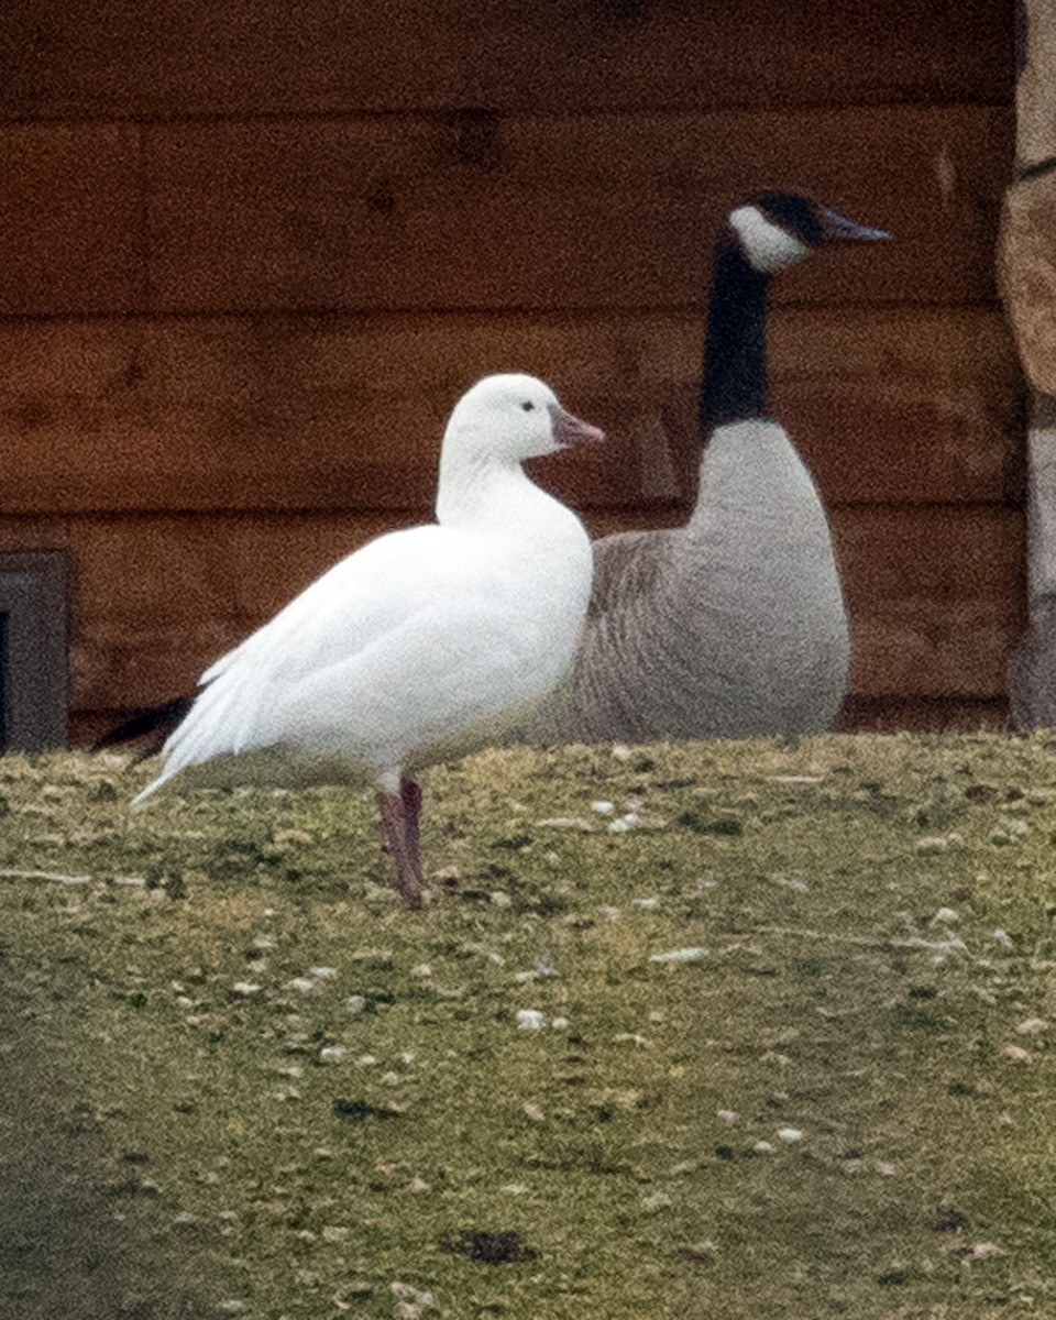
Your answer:
[[[136,804],[215,758],[244,758],[253,779],[366,767],[395,886],[418,903],[418,771],[496,741],[545,696],[590,598],[582,524],[521,462],[602,438],[532,376],[474,385],[444,434],[437,521],[364,545],[209,668]]]

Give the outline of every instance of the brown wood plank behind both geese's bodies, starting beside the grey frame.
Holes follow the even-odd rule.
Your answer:
[[[589,521],[603,535],[643,520]],[[75,708],[127,709],[186,690],[210,660],[381,525],[334,515],[71,520]],[[1019,515],[853,508],[837,511],[834,532],[855,696],[1003,697],[1024,622]]]

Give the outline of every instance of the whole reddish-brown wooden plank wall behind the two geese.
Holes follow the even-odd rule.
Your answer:
[[[999,717],[1011,48],[1011,0],[7,0],[0,548],[69,550],[75,731],[422,517],[491,370],[610,432],[544,473],[594,529],[673,521],[710,240],[760,186],[896,236],[775,289],[775,392],[853,607],[847,719]]]

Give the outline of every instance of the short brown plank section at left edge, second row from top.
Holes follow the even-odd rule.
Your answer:
[[[139,131],[0,131],[0,315],[141,312]]]

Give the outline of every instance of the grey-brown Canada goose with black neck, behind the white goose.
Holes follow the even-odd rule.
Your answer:
[[[824,243],[883,238],[795,193],[730,211],[708,308],[696,508],[685,527],[595,543],[574,672],[512,737],[643,742],[832,725],[847,616],[825,508],[767,409],[767,289]]]

